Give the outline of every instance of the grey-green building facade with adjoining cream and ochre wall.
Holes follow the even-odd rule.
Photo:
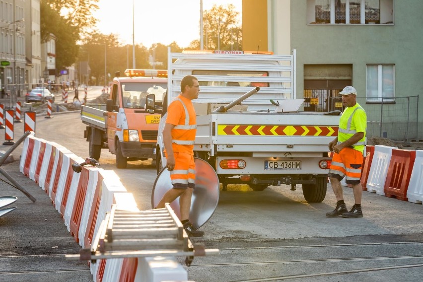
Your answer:
[[[243,11],[258,9],[258,2],[244,0]],[[314,4],[315,0],[268,0],[268,17],[254,20],[256,26],[268,23],[269,51],[289,54],[296,49],[297,98],[303,96],[304,79],[351,79],[360,103],[371,111],[372,105],[365,102],[369,64],[395,65],[395,97],[423,93],[423,1],[381,0],[381,10],[393,6],[392,13],[381,14],[381,23],[393,19],[391,24],[311,24],[315,13],[307,10],[307,3]],[[264,34],[265,29],[256,30],[247,24],[250,18],[243,15],[243,37]],[[342,73],[328,68],[342,69]],[[423,128],[423,95],[420,96],[420,114],[416,116]],[[380,104],[376,107],[380,108]],[[423,130],[419,139],[423,139]]]

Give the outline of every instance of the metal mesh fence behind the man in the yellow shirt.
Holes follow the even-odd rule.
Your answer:
[[[342,98],[330,97],[330,100],[330,110],[343,110]],[[367,137],[419,141],[419,96],[382,98],[378,103],[357,97],[357,102],[367,114]]]

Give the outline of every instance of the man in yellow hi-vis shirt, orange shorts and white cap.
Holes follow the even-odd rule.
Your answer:
[[[329,149],[334,152],[329,179],[337,199],[334,211],[326,213],[327,217],[353,218],[363,217],[361,210],[360,184],[363,163],[363,150],[366,140],[367,116],[364,109],[357,103],[357,91],[352,86],[345,87],[339,94],[345,110],[339,121],[338,137],[329,143]],[[352,184],[355,204],[348,211],[344,202],[341,180],[346,177],[346,183]]]

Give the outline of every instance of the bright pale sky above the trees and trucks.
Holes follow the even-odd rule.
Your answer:
[[[233,4],[241,24],[242,0],[203,0],[203,10],[213,4]],[[116,34],[122,45],[132,44],[133,0],[100,0],[94,16],[103,34]],[[149,48],[153,43],[188,47],[200,39],[200,0],[134,0],[135,44]]]

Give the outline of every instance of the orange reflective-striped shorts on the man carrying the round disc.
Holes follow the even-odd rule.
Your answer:
[[[173,188],[195,188],[194,156],[183,152],[174,152],[175,168],[170,171]],[[167,153],[166,153],[167,156]]]

